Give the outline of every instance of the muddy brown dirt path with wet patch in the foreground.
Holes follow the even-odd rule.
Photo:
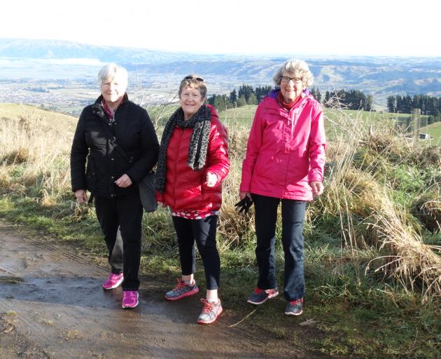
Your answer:
[[[101,288],[107,270],[77,252],[0,222],[0,358],[318,358],[229,327],[228,311],[197,325],[199,297],[166,302],[151,279],[123,310],[120,288]]]

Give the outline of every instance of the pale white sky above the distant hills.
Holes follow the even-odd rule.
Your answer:
[[[441,56],[439,0],[7,0],[0,37],[198,53]]]

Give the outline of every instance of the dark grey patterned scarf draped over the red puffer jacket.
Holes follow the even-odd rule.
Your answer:
[[[202,170],[207,159],[207,149],[211,127],[211,111],[202,105],[188,120],[183,118],[183,109],[179,107],[169,118],[162,133],[158,166],[156,168],[156,189],[164,191],[167,172],[167,147],[172,138],[174,128],[193,128],[188,147],[188,166],[192,170]]]

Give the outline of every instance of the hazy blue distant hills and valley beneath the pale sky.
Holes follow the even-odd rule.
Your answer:
[[[203,48],[203,44],[202,44]],[[258,57],[178,53],[142,48],[92,46],[49,40],[0,39],[0,80],[31,78],[94,78],[105,62],[116,62],[142,79],[174,79],[197,73],[221,92],[247,83],[272,83],[272,74],[295,53]],[[301,56],[314,74],[314,87],[324,92],[357,89],[384,104],[388,95],[441,96],[441,57]]]

